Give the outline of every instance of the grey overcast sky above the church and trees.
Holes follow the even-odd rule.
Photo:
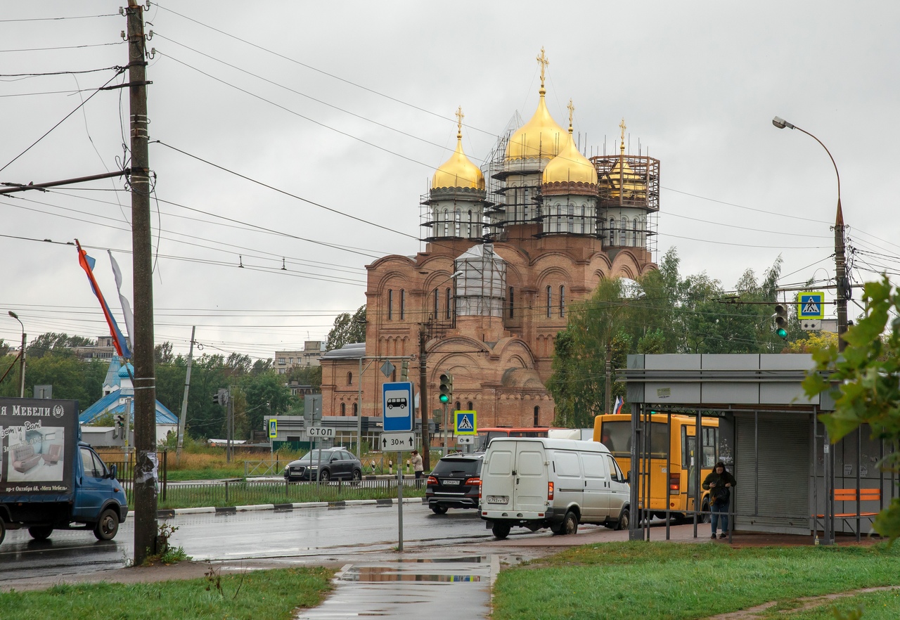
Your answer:
[[[0,0],[0,182],[120,169],[127,89],[95,93],[123,80],[120,4]],[[781,256],[784,285],[833,278],[832,163],[775,115],[834,157],[855,283],[896,274],[898,17],[833,1],[152,4],[150,139],[193,156],[150,145],[157,343],[186,353],[196,325],[202,353],[266,359],[324,339],[365,303],[365,265],[424,248],[419,200],[457,106],[479,165],[531,117],[542,47],[548,108],[564,127],[572,99],[587,155],[613,152],[624,117],[629,152],[661,160],[656,257],[676,247],[681,274],[730,288]],[[129,222],[118,180],[0,196],[0,338],[21,338],[6,310],[29,339],[103,335],[66,244],[94,256],[121,317],[107,249],[133,298]]]

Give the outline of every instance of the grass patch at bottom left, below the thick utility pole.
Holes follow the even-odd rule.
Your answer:
[[[5,618],[16,620],[288,620],[315,607],[331,589],[324,568],[249,571],[161,583],[99,583],[0,593]]]

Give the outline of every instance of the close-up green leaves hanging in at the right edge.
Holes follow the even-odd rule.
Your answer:
[[[815,371],[804,382],[810,396],[831,392],[834,412],[820,416],[832,442],[840,441],[862,425],[872,437],[893,447],[878,465],[900,471],[900,290],[887,275],[866,283],[865,314],[844,335],[846,347],[838,354],[832,345],[814,349]],[[900,537],[900,498],[894,498],[875,519],[875,531],[893,542]]]

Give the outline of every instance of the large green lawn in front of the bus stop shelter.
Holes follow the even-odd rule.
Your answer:
[[[744,547],[629,543],[575,547],[502,571],[492,620],[513,618],[705,618],[725,612],[852,589],[900,584],[900,544],[869,547]],[[867,605],[864,620],[900,617],[896,592],[839,602]],[[825,606],[831,607],[831,604]],[[884,610],[876,612],[876,609]],[[827,608],[803,612],[833,618]],[[878,615],[877,615],[878,614]],[[786,617],[772,613],[766,617]]]

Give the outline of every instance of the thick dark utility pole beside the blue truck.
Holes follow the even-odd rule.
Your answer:
[[[144,7],[128,0],[131,261],[134,280],[134,563],[157,553],[157,395]]]

